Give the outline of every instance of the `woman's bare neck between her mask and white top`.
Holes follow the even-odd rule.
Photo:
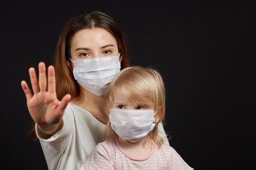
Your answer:
[[[92,113],[101,123],[107,124],[109,111],[104,96],[92,94],[82,87],[80,89],[79,96],[75,97],[72,102],[80,108],[84,108],[86,111]]]

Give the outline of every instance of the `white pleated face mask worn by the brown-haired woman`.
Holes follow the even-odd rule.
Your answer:
[[[74,63],[73,74],[78,84],[97,96],[104,95],[107,86],[120,72],[119,55],[75,61],[70,59]]]

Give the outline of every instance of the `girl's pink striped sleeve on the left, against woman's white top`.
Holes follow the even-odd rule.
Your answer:
[[[88,157],[84,164],[82,164],[80,170],[85,169],[114,169],[112,162],[112,154],[109,152],[111,148],[108,146],[102,145],[102,143],[98,144],[95,147],[94,152]]]

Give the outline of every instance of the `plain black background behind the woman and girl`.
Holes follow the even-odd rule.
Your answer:
[[[1,167],[47,169],[26,136],[31,117],[20,82],[52,64],[61,28],[103,11],[127,36],[130,64],[166,85],[170,144],[195,169],[255,166],[255,6],[246,1],[1,1]]]

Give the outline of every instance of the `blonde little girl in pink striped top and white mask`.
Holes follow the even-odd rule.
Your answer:
[[[82,169],[191,169],[159,136],[164,120],[164,83],[158,72],[128,67],[117,74],[105,99],[110,121]]]

